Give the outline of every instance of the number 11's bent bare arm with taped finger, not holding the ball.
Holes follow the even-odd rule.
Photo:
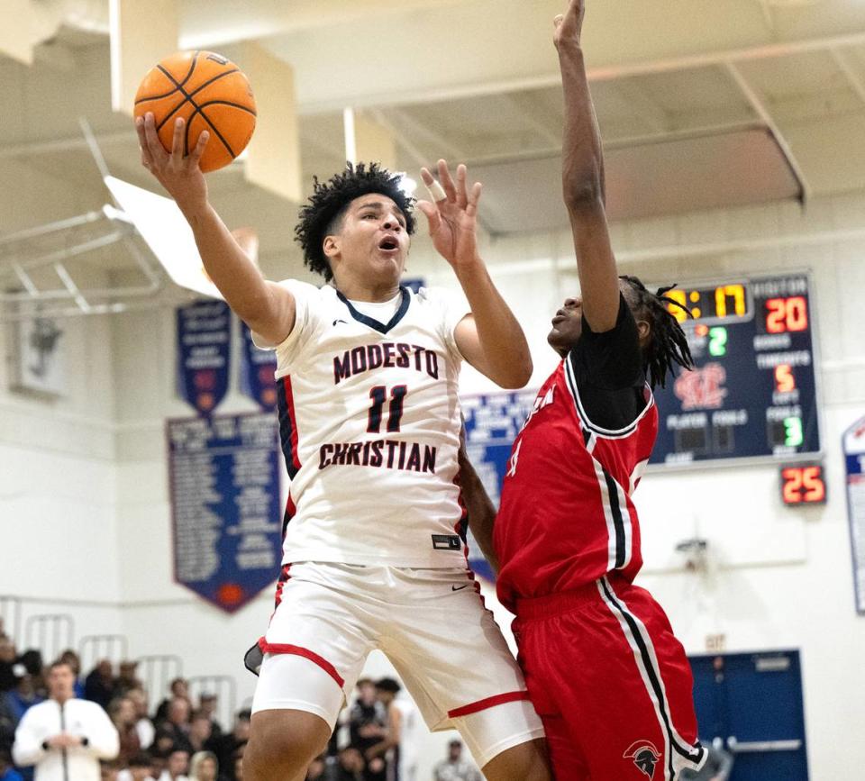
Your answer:
[[[496,385],[523,387],[532,377],[532,356],[520,324],[499,294],[478,253],[477,215],[481,186],[469,191],[466,167],[457,167],[454,183],[444,160],[439,160],[441,185],[423,168],[421,176],[430,187],[434,203],[419,201],[426,215],[435,249],[447,260],[463,292],[471,314],[454,331],[457,347],[466,360]]]

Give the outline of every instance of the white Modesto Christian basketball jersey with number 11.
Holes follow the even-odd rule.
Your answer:
[[[281,284],[297,307],[276,348],[283,563],[466,567],[453,340],[466,304],[404,287],[383,323],[332,286]]]

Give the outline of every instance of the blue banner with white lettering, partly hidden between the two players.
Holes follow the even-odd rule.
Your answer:
[[[511,447],[534,406],[537,391],[470,395],[460,399],[466,425],[466,453],[493,504],[498,507]],[[469,534],[469,566],[495,580],[478,543]]]

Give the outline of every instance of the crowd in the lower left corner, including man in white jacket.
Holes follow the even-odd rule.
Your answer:
[[[250,712],[237,713],[226,731],[215,716],[216,696],[205,693],[194,702],[183,678],[171,682],[168,695],[151,712],[136,667],[134,661],[123,661],[115,669],[102,659],[82,677],[75,651],[67,650],[45,665],[39,651],[18,653],[0,628],[0,781],[33,781],[34,775],[35,781],[50,781],[45,768],[52,750],[61,752],[68,765],[73,748],[99,760],[103,781],[242,781]],[[64,693],[60,679],[67,676],[70,688]],[[87,706],[78,701],[99,706],[96,710],[101,709],[111,732],[110,745],[74,734],[69,724],[32,749],[27,745],[34,725],[41,721],[38,711],[25,719],[27,713],[50,700],[63,704],[68,699],[75,699],[84,713]],[[59,713],[56,706],[53,713]],[[83,723],[76,717],[76,724]],[[78,730],[86,731],[83,726]]]

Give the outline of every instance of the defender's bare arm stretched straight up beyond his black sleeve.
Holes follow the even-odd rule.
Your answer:
[[[604,153],[589,94],[581,35],[584,0],[555,19],[565,98],[562,189],[577,252],[583,315],[592,331],[609,331],[619,312],[619,279],[606,224]]]

